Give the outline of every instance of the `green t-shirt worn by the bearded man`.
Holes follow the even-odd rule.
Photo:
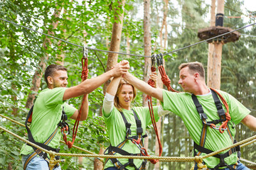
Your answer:
[[[36,98],[30,125],[31,133],[36,142],[45,142],[56,129],[60,122],[63,106],[68,118],[75,113],[76,108],[63,101],[65,89],[62,87],[44,89]],[[58,148],[61,136],[61,132],[58,130],[48,146]],[[21,148],[21,154],[31,154],[31,152],[33,152],[33,148],[26,144]]]

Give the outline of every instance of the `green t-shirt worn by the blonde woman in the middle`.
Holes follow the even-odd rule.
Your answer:
[[[159,115],[157,113],[158,107],[159,106],[153,107],[154,117],[156,121],[159,120]],[[142,121],[142,128],[143,128],[143,135],[144,135],[146,132],[146,126],[151,124],[149,107],[136,107],[132,109],[134,109],[135,113],[137,113],[139,120]],[[133,111],[122,109],[122,112],[124,113],[125,118],[127,118],[127,122],[132,124],[130,128],[132,130],[132,134],[130,136],[137,135],[137,131],[136,131],[137,125],[135,122]],[[119,143],[125,140],[125,136],[126,136],[126,128],[124,125],[124,120],[122,118],[122,115],[121,113],[119,113],[119,111],[115,107],[113,107],[112,111],[108,115],[106,115],[104,110],[102,110],[102,113],[103,113],[103,117],[105,118],[107,132],[110,137],[110,143],[112,146],[116,147],[117,145],[119,145]],[[134,143],[132,143],[131,140],[128,140],[125,143],[124,147],[122,147],[122,149],[133,154],[140,153],[139,148],[136,145],[134,145]],[[115,154],[115,155],[119,155],[119,154]],[[121,164],[126,164],[128,162],[128,159],[118,159],[118,160],[119,162],[121,162]],[[143,162],[143,159],[134,159],[134,164],[137,166],[137,168],[139,168],[142,162]],[[114,166],[114,165],[110,160],[108,160],[104,168],[107,169],[108,167],[111,167],[111,166]],[[134,167],[132,166],[126,166],[126,168],[129,170],[134,170]]]

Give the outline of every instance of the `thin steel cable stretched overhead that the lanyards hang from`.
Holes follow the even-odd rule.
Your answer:
[[[20,26],[20,27],[26,28],[26,29],[28,29],[28,30],[33,30],[32,28],[28,28],[28,27],[26,27],[26,26],[21,26],[21,25],[19,25],[18,23],[14,23],[14,22],[5,20],[5,19],[3,19],[3,18],[0,18],[0,20],[6,21],[6,22],[8,22],[8,23],[12,23],[12,24],[14,24],[14,25],[16,25],[16,26]],[[255,24],[256,24],[256,23],[252,23],[252,24],[250,24],[250,25],[243,26],[243,27],[241,27],[241,28],[232,30],[232,31],[230,31],[230,32],[217,35],[217,36],[215,36],[215,37],[213,37],[213,38],[208,38],[207,40],[202,40],[202,41],[200,41],[200,42],[196,42],[195,44],[188,45],[188,46],[186,46],[186,47],[178,48],[177,50],[174,50],[174,51],[171,51],[171,52],[167,52],[167,53],[165,53],[165,54],[163,54],[163,55],[169,55],[169,54],[171,54],[171,53],[174,53],[174,52],[183,50],[183,49],[185,49],[185,48],[188,48],[188,47],[192,47],[192,46],[194,46],[194,45],[201,44],[202,42],[207,42],[208,40],[213,40],[213,39],[219,38],[219,37],[221,37],[221,36],[223,36],[223,35],[227,35],[227,34],[229,34],[229,33],[233,33],[233,32],[235,32],[235,31],[237,31],[237,30],[242,30],[242,29],[244,29],[244,28],[247,28],[247,27],[250,27],[250,26],[254,26]],[[38,31],[38,30],[33,30],[33,31],[36,32],[36,33],[41,33],[41,34],[46,35],[46,36],[48,36],[48,37],[55,38],[55,39],[57,39],[57,40],[66,42],[66,43],[68,43],[68,44],[70,44],[70,45],[75,45],[75,46],[77,46],[77,47],[83,47],[82,45],[76,45],[76,44],[74,44],[74,43],[72,43],[72,42],[68,42],[68,41],[66,41],[66,40],[63,40],[63,39],[60,39],[60,38],[56,38],[56,37],[54,37],[54,36],[52,36],[52,35],[48,35],[48,34],[46,34],[46,33],[42,33],[42,32],[40,32],[40,31]],[[113,52],[113,51],[108,51],[108,50],[99,50],[99,49],[90,48],[90,47],[86,47],[86,48],[89,49],[89,50],[96,50],[96,51],[101,51],[101,52],[111,52],[111,53],[116,53],[116,54],[119,54],[119,55],[130,55],[130,56],[137,56],[137,57],[151,57],[151,56],[146,56],[146,55],[132,55],[132,54],[124,53],[124,52]]]

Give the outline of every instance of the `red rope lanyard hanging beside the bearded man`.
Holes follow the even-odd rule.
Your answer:
[[[88,52],[87,52],[87,48],[84,46],[83,47],[83,55],[82,55],[82,76],[81,76],[81,79],[82,81],[85,81],[88,77],[88,67],[87,67],[87,64],[88,64],[88,58],[87,58],[87,55],[88,55]],[[77,132],[78,132],[78,125],[79,125],[79,121],[80,121],[80,117],[81,117],[81,114],[82,114],[82,106],[84,105],[85,103],[85,99],[86,99],[86,95],[83,95],[82,97],[82,104],[81,104],[81,107],[80,107],[80,110],[79,110],[79,113],[78,113],[78,117],[76,118],[75,120],[75,125],[74,125],[74,128],[73,128],[73,137],[72,137],[72,142],[71,141],[67,141],[67,134],[65,134],[62,129],[62,132],[63,132],[63,140],[65,141],[65,144],[68,145],[68,148],[71,148],[75,142],[75,137],[77,135]]]

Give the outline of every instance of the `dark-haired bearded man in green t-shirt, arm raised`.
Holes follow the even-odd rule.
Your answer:
[[[46,68],[45,79],[48,86],[47,89],[41,91],[36,98],[36,102],[33,106],[33,116],[31,121],[30,130],[33,135],[33,139],[36,142],[46,142],[48,138],[56,133],[50,140],[48,147],[58,149],[60,145],[61,132],[58,129],[58,123],[60,123],[63,111],[65,111],[68,118],[75,119],[78,117],[78,110],[65,103],[69,98],[75,98],[78,96],[86,95],[85,102],[82,106],[82,113],[80,120],[85,120],[88,113],[88,101],[87,94],[97,89],[99,86],[105,83],[111,77],[119,77],[126,73],[129,69],[129,62],[122,61],[114,66],[109,72],[82,81],[78,86],[67,88],[68,74],[67,69],[61,65],[51,64]],[[48,162],[42,157],[33,157],[26,161],[30,154],[33,154],[34,150],[31,146],[24,144],[21,148],[22,162],[24,169],[45,170],[48,169]],[[55,167],[55,170],[60,166]]]

